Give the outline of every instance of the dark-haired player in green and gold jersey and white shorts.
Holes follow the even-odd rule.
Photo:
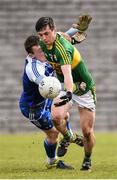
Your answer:
[[[90,17],[84,18],[85,23],[78,23],[79,31],[84,32],[90,23]],[[63,156],[70,142],[74,137],[70,135],[66,128],[66,121],[69,118],[69,110],[72,101],[78,105],[80,114],[80,125],[84,136],[84,160],[81,170],[91,169],[91,154],[95,143],[94,121],[96,92],[92,75],[88,71],[86,64],[79,51],[62,35],[56,32],[54,20],[51,17],[41,17],[36,23],[36,31],[40,37],[41,48],[56,71],[56,75],[63,84],[66,91],[62,91],[60,96],[55,98],[52,105],[52,117],[55,127],[63,134],[63,139],[58,147],[58,156]]]

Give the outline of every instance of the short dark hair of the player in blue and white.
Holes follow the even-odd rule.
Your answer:
[[[24,42],[24,47],[27,53],[33,53],[32,46],[39,45],[39,37],[36,35],[29,36]]]

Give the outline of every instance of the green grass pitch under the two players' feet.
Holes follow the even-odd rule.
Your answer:
[[[91,172],[81,172],[83,148],[72,144],[62,159],[75,170],[47,170],[44,134],[0,135],[2,179],[116,179],[117,133],[97,133]]]

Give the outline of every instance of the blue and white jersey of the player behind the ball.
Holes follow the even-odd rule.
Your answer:
[[[41,62],[30,56],[26,57],[23,73],[23,92],[20,103],[25,103],[29,107],[44,102],[38,89],[39,81],[45,76],[52,76],[53,68],[47,62]]]

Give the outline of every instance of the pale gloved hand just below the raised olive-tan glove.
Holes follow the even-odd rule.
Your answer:
[[[78,44],[86,39],[87,34],[85,32],[77,32],[74,36],[72,36],[71,43]]]

